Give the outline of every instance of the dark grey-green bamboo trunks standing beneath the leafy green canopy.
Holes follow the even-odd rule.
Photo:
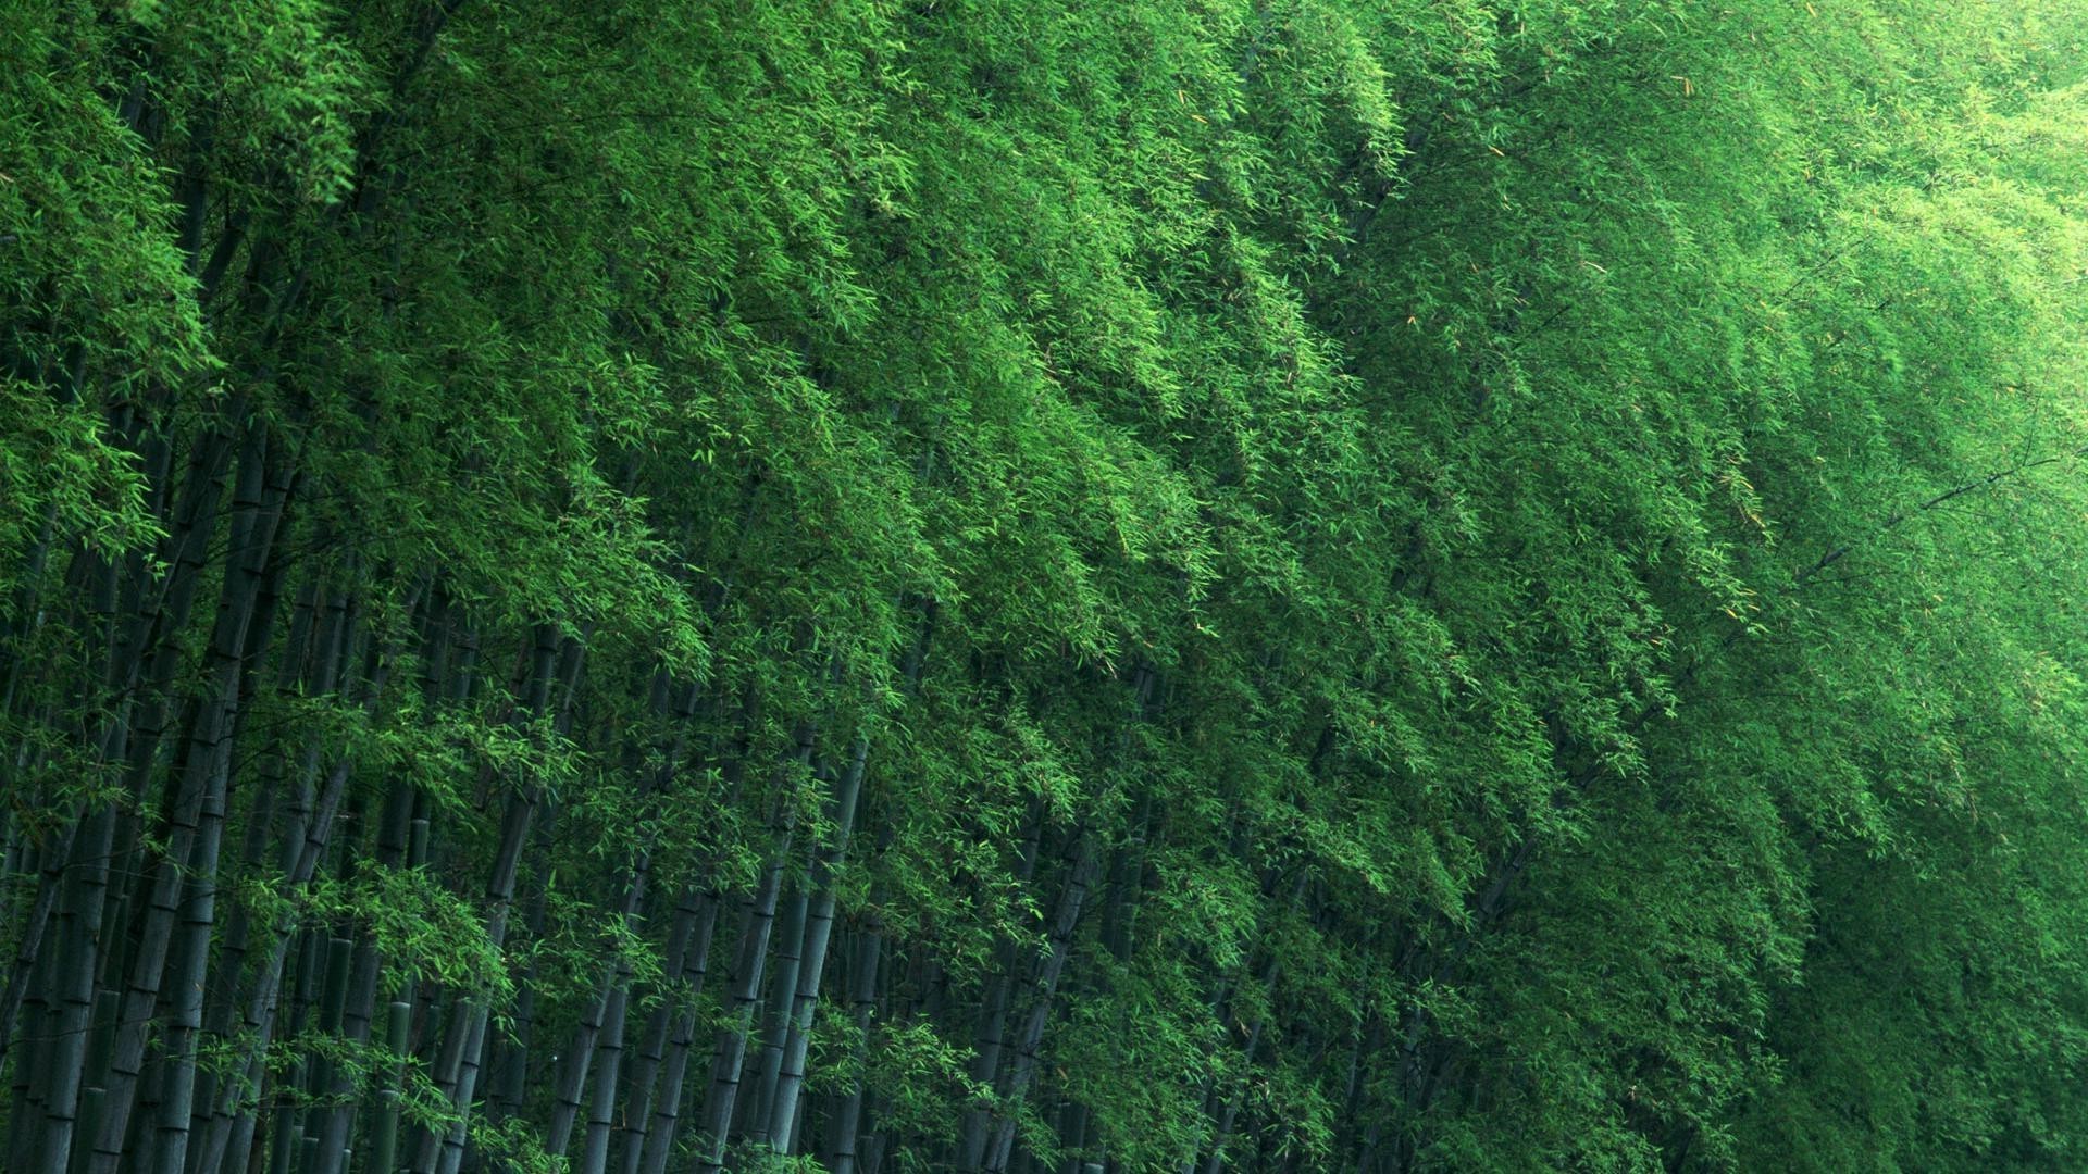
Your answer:
[[[487,1161],[480,1124],[524,1113],[537,1118],[547,1153],[589,1174],[725,1170],[745,1147],[869,1172],[894,1145],[929,1145],[875,1128],[879,1097],[860,1074],[808,1093],[818,1013],[848,1015],[858,1040],[879,1019],[971,1019],[969,1074],[998,1107],[967,1113],[952,1157],[965,1170],[1023,1166],[1011,1107],[1038,1082],[1052,1005],[1105,867],[1096,836],[1044,819],[1027,825],[1019,879],[1057,892],[1044,948],[1006,940],[979,1005],[950,1005],[931,953],[889,950],[873,915],[837,930],[835,875],[862,806],[869,735],[829,748],[814,723],[800,723],[789,758],[768,769],[777,779],[806,773],[823,790],[818,840],[806,850],[791,804],[770,798],[752,890],[695,877],[660,892],[643,836],[593,877],[593,909],[616,921],[618,938],[658,938],[660,969],[639,988],[631,953],[610,950],[593,999],[551,1047],[532,1017],[532,971],[518,976],[509,1005],[461,984],[386,980],[367,919],[313,913],[328,877],[457,873],[484,852],[451,844],[453,823],[418,785],[359,779],[353,756],[330,756],[317,733],[257,729],[244,702],[271,691],[367,719],[380,702],[397,704],[395,666],[413,664],[422,704],[464,706],[482,687],[480,656],[493,641],[443,600],[436,577],[407,587],[395,604],[407,623],[390,627],[374,623],[357,593],[353,554],[336,574],[301,581],[282,543],[294,485],[284,445],[230,409],[188,445],[184,476],[165,493],[169,570],[152,577],[142,558],[125,566],[79,549],[65,566],[73,606],[35,620],[71,625],[100,650],[104,704],[79,706],[98,723],[77,733],[119,785],[96,790],[56,825],[8,827],[6,861],[23,882],[0,1007],[10,1170],[453,1174]],[[211,549],[228,551],[221,572]],[[211,581],[203,685],[184,691],[171,633],[186,629]],[[931,639],[933,608],[921,614],[908,687]],[[537,625],[516,643],[499,702],[505,721],[524,735],[572,739],[587,652],[583,633]],[[48,666],[17,660],[6,673],[10,698],[63,696]],[[1150,704],[1155,675],[1140,671],[1134,691],[1138,708]],[[677,785],[702,704],[702,689],[654,675],[660,729],[679,733],[656,748],[641,802]],[[722,758],[729,802],[758,769]],[[478,911],[497,955],[518,921],[543,919],[551,879],[530,856],[547,848],[543,827],[560,800],[528,777],[489,771],[484,781],[497,823]],[[793,861],[808,867],[793,873]],[[265,890],[219,900],[228,871]],[[1136,861],[1119,856],[1117,873],[1109,917],[1123,950],[1121,902],[1136,896]],[[407,1111],[428,1095],[432,1107]],[[1228,1126],[1236,1113],[1234,1097]]]

